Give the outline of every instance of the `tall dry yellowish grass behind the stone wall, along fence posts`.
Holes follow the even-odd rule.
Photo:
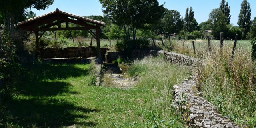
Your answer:
[[[172,48],[174,52],[204,61],[195,69],[202,95],[224,116],[241,126],[256,127],[256,83],[252,83],[255,65],[251,60],[250,42],[238,42],[232,63],[232,41],[224,41],[223,54],[218,40],[211,40],[211,52],[207,40],[195,40],[196,54],[191,42],[186,40],[183,50],[182,41],[172,40]]]

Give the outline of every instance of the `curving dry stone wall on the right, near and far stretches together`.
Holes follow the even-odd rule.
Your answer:
[[[196,58],[173,52],[158,51],[157,55],[172,63],[189,67],[196,66],[199,62]],[[186,96],[188,106],[178,105],[182,102],[182,94]],[[236,123],[223,117],[215,106],[200,96],[194,81],[184,80],[182,84],[173,86],[173,96],[176,107],[182,107],[190,111],[189,118],[192,128],[239,128]]]

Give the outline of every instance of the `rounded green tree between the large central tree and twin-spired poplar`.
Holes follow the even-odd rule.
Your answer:
[[[164,31],[169,34],[178,33],[183,27],[182,19],[180,18],[180,12],[177,10],[167,10],[164,12]]]

